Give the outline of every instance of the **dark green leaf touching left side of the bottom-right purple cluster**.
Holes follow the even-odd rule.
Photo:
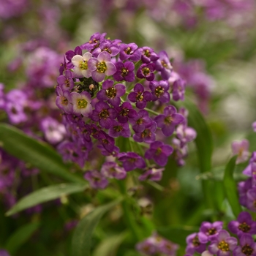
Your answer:
[[[178,227],[158,227],[157,233],[173,241],[173,243],[186,246],[186,238],[192,233],[198,232],[199,227],[178,226]]]

